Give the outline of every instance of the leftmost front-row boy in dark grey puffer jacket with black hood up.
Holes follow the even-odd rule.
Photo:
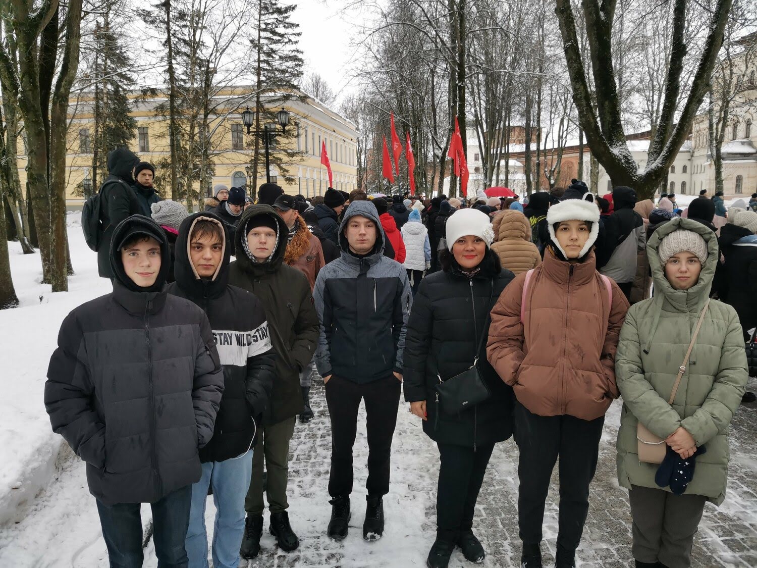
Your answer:
[[[169,250],[133,215],[111,239],[113,292],[61,324],[45,383],[54,432],[86,462],[111,565],[142,566],[150,503],[161,566],[187,566],[199,450],[213,436],[223,374],[204,312],[164,290]]]

